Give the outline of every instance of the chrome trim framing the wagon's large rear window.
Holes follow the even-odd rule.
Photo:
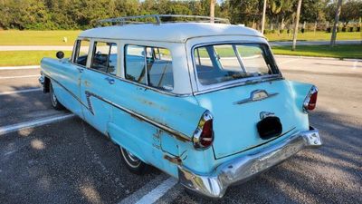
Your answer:
[[[253,81],[253,83],[262,83],[262,82],[269,82],[269,81],[273,81],[273,80],[284,79],[281,75],[281,71],[278,68],[277,63],[275,63],[273,54],[271,53],[272,57],[270,60],[271,60],[271,63],[273,63],[274,67],[277,69],[277,71],[278,71],[277,74],[248,77],[248,78],[228,81],[228,82],[224,82],[224,83],[214,83],[211,85],[201,84],[198,80],[197,70],[196,70],[196,66],[195,66],[195,48],[202,47],[205,45],[218,45],[218,44],[262,44],[262,45],[268,47],[269,52],[271,53],[271,47],[269,44],[262,43],[262,42],[254,42],[254,41],[218,41],[218,42],[207,42],[207,43],[203,43],[203,44],[194,44],[191,47],[191,60],[192,60],[192,65],[193,65],[192,69],[194,72],[194,80],[196,83],[196,90],[197,90],[196,92],[194,92],[194,95],[202,94],[205,92],[214,92],[214,91],[222,90],[225,88],[231,88],[231,87],[235,87],[235,86],[239,86],[239,85],[251,84],[252,81]]]

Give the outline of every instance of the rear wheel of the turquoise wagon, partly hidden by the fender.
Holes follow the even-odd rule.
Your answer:
[[[145,162],[139,160],[138,157],[126,149],[119,146],[119,151],[123,165],[125,165],[130,172],[142,175],[148,169],[148,165]]]

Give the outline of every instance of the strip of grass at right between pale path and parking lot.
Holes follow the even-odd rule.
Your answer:
[[[362,59],[362,44],[336,45],[333,48],[329,45],[298,45],[296,51],[291,51],[291,46],[274,46],[271,49],[274,54]]]

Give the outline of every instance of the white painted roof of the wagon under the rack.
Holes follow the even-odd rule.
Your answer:
[[[83,31],[80,37],[185,43],[190,38],[220,35],[263,37],[258,31],[241,25],[211,23],[113,25]]]

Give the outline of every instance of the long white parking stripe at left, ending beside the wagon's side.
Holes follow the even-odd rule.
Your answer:
[[[3,127],[0,127],[0,135],[4,135],[4,134],[7,134],[7,133],[10,133],[13,131],[20,131],[23,129],[34,128],[34,127],[42,126],[44,124],[56,122],[56,121],[64,121],[64,120],[70,119],[74,116],[75,116],[74,114],[70,113],[70,114],[65,114],[65,115],[58,115],[58,116],[38,119],[38,120],[34,120],[34,121],[20,122],[20,123],[13,124],[13,125],[6,125]]]

